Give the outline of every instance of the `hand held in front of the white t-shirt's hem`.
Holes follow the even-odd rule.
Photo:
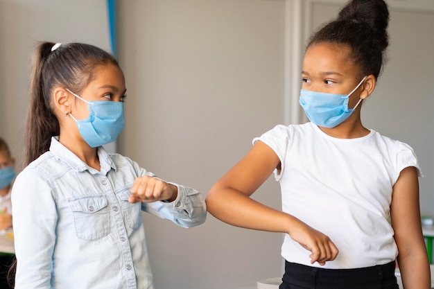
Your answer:
[[[293,227],[288,234],[304,249],[312,252],[309,255],[311,264],[318,262],[320,265],[325,265],[326,261],[333,261],[338,256],[339,250],[328,236],[303,222]]]

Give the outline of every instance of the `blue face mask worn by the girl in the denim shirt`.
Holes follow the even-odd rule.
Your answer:
[[[91,148],[103,146],[116,140],[125,127],[123,103],[118,101],[87,101],[67,89],[73,96],[83,100],[89,107],[87,119],[77,120],[78,131]]]

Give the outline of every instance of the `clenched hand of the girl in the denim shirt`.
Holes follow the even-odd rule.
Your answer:
[[[177,197],[177,187],[167,184],[161,179],[145,175],[137,177],[131,187],[129,202],[156,202],[168,200],[173,202]]]

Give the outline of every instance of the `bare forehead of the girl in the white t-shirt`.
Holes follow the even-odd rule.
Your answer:
[[[309,46],[304,54],[302,70],[306,73],[333,72],[342,75],[358,73],[349,46],[329,43]]]

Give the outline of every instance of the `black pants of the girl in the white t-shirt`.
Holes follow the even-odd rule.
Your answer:
[[[285,262],[279,289],[398,289],[395,263],[357,269],[324,269]]]

